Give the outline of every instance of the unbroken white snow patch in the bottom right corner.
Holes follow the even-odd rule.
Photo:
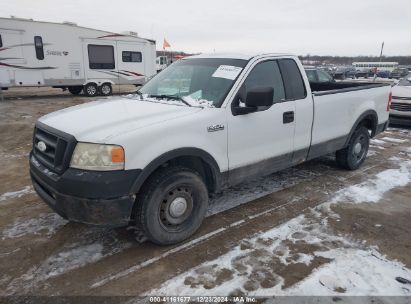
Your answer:
[[[410,287],[395,280],[398,276],[411,277],[411,271],[402,263],[388,260],[375,249],[332,249],[317,255],[333,261],[285,290],[285,295],[411,295]]]

